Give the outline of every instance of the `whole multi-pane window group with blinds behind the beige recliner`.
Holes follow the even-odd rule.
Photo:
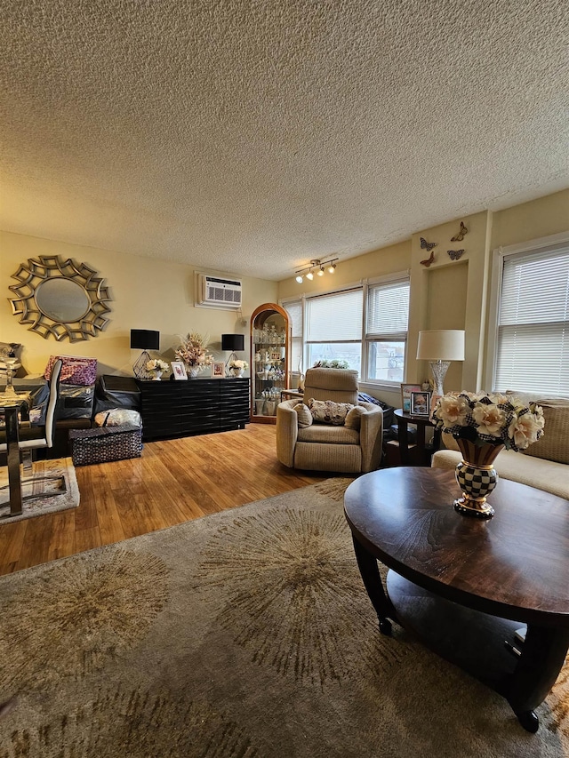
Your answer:
[[[292,369],[345,361],[364,381],[404,380],[408,276],[283,303],[293,324]],[[304,326],[304,328],[303,328]]]

